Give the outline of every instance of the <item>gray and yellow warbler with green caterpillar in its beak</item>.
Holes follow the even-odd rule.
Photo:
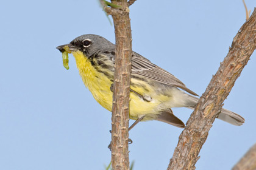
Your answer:
[[[102,36],[87,34],[75,38],[69,44],[58,46],[57,49],[62,53],[73,54],[85,86],[101,106],[111,111],[115,44]],[[197,96],[174,75],[132,52],[129,117],[136,120],[132,127],[139,121],[148,120],[185,127],[171,108],[194,109],[199,98],[193,95]],[[243,117],[223,108],[218,118],[237,126],[244,123]]]

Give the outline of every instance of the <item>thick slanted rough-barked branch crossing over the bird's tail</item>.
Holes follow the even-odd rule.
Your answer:
[[[200,98],[196,109],[180,134],[168,169],[195,169],[198,154],[213,121],[221,110],[236,79],[256,48],[256,10],[233,39],[224,61]]]

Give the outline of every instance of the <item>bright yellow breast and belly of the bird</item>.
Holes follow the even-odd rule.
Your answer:
[[[84,81],[85,86],[90,90],[94,99],[101,104],[105,109],[112,110],[112,97],[113,93],[110,90],[113,82],[104,73],[98,72],[86,56],[80,51],[72,52],[76,60],[77,69],[79,70],[80,77]],[[109,71],[110,72],[110,71]],[[113,74],[113,73],[112,73]],[[132,89],[140,94],[144,94],[143,86],[147,84],[140,80],[133,80]],[[142,84],[143,86],[140,86]],[[148,88],[148,94],[154,93],[154,89]],[[152,120],[158,114],[158,104],[160,101],[152,100],[150,102],[144,101],[142,98],[134,93],[130,93],[130,118],[136,120],[139,115],[148,114],[144,117],[145,120]]]

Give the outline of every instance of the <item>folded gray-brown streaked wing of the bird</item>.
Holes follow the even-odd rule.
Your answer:
[[[174,75],[135,52],[133,52],[132,55],[132,74],[157,81],[158,83],[179,87],[190,94],[197,95],[195,92],[188,89],[179,79],[174,77]]]

